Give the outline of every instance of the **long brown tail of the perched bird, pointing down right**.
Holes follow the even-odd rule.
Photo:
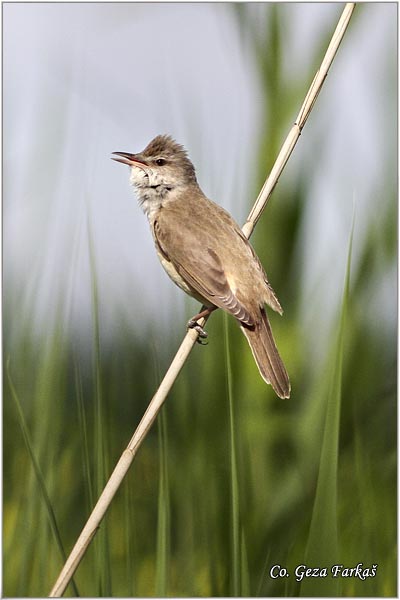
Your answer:
[[[261,309],[260,319],[254,326],[240,324],[240,328],[249,342],[261,377],[272,385],[280,398],[289,398],[289,377],[279,356],[265,309]]]

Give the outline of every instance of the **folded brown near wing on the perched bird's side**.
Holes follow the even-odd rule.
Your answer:
[[[190,247],[185,247],[181,236],[176,232],[173,235],[164,224],[160,226],[158,220],[154,221],[153,231],[159,250],[190,287],[241,323],[254,325],[250,312],[235,296],[212,244],[207,243],[207,236],[191,236]]]

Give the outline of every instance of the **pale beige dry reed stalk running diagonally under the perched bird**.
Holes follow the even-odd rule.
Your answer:
[[[310,115],[310,112],[314,106],[317,96],[321,90],[322,84],[324,83],[325,78],[328,74],[328,70],[333,62],[333,59],[335,58],[336,52],[346,32],[354,8],[354,3],[348,3],[346,4],[342,12],[342,15],[339,19],[335,32],[329,43],[324,59],[313,79],[310,89],[307,92],[306,98],[300,109],[298,117],[292,129],[290,130],[281,148],[281,151],[279,152],[275,164],[272,167],[271,173],[266,179],[246,223],[242,228],[243,233],[246,235],[247,238],[251,236],[255,225],[261,217],[262,211],[266,207],[268,199],[271,196],[271,193],[275,188],[275,185],[277,184],[277,181],[287,161],[289,160],[289,157],[296,145],[296,142],[300,137],[302,129]],[[206,321],[207,319],[203,318],[199,321],[199,324],[201,326],[204,326]],[[73,547],[71,554],[68,557],[68,560],[66,561],[63,569],[61,570],[61,573],[56,583],[54,584],[54,587],[51,590],[49,597],[60,597],[64,593],[65,588],[70,582],[90,542],[96,534],[96,531],[99,528],[100,523],[109,505],[111,504],[115,493],[121,485],[122,480],[125,477],[130,465],[132,464],[132,461],[135,458],[138,448],[140,447],[149,429],[151,428],[155,418],[158,415],[158,412],[160,411],[164,401],[167,398],[170,389],[172,388],[176,378],[178,377],[178,374],[180,373],[183,365],[185,364],[186,359],[188,358],[193,346],[195,345],[197,338],[198,333],[194,329],[189,329],[182,341],[181,346],[178,349],[178,352],[175,355],[175,358],[173,359],[167,373],[165,374],[164,379],[162,380],[158,390],[154,394],[142,420],[140,421],[135,433],[133,434],[131,441],[122,453],[114,471],[112,472],[110,479],[108,480],[96,506],[92,511],[92,514],[86,522],[86,525],[84,526],[77,542],[75,543],[75,546]]]

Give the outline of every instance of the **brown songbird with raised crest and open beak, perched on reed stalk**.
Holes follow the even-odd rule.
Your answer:
[[[130,183],[147,215],[158,258],[183,291],[203,310],[188,327],[207,334],[200,317],[221,308],[239,323],[262,378],[280,398],[290,397],[290,381],[266,313],[282,315],[278,298],[252,245],[239,225],[202,192],[185,148],[158,135],[139,153],[113,152],[130,167]]]

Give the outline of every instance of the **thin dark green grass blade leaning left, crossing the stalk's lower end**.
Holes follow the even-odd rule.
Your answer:
[[[66,556],[66,553],[65,553],[65,550],[64,550],[64,546],[63,546],[63,543],[62,543],[60,530],[59,530],[58,525],[57,525],[57,519],[56,519],[56,516],[55,516],[55,513],[54,513],[53,505],[52,505],[51,500],[50,500],[50,496],[49,496],[49,494],[47,492],[46,482],[45,482],[44,475],[42,473],[42,470],[40,468],[40,465],[39,465],[38,461],[36,460],[36,456],[35,456],[35,453],[34,453],[34,450],[33,450],[33,445],[32,445],[32,442],[31,442],[30,435],[29,435],[29,430],[28,430],[28,427],[27,427],[27,424],[26,424],[26,421],[25,421],[24,412],[22,410],[22,406],[21,406],[21,403],[19,401],[19,397],[18,397],[17,391],[15,389],[13,380],[11,378],[10,361],[9,361],[9,359],[7,359],[7,362],[6,362],[6,372],[7,372],[8,384],[10,386],[11,396],[12,396],[12,398],[14,400],[14,403],[15,403],[15,406],[16,406],[16,409],[17,409],[18,423],[19,423],[19,426],[21,428],[22,436],[24,438],[25,446],[26,446],[26,449],[28,451],[28,455],[29,455],[29,458],[30,458],[30,461],[31,461],[31,464],[32,464],[33,471],[35,473],[35,477],[36,477],[36,481],[37,481],[38,486],[39,486],[40,494],[41,494],[43,503],[44,503],[45,508],[46,508],[47,516],[48,516],[49,523],[50,523],[50,528],[51,528],[52,534],[54,536],[54,539],[56,541],[57,547],[59,549],[62,563],[64,563],[66,561],[66,559],[67,559],[67,556]],[[74,591],[74,595],[75,596],[79,596],[78,588],[77,588],[77,586],[76,586],[76,584],[75,584],[75,582],[74,582],[73,579],[71,580],[71,585],[72,585],[72,589]]]

